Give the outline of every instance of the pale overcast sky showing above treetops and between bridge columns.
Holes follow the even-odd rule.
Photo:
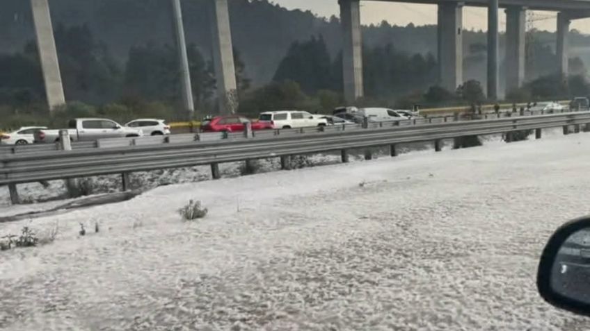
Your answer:
[[[289,9],[311,10],[324,17],[338,15],[337,0],[272,0]],[[555,31],[557,13],[534,12],[537,20],[534,27],[540,30]],[[412,22],[415,25],[436,24],[436,6],[410,3],[386,3],[383,1],[362,1],[360,19],[362,24],[378,24],[385,19],[390,24],[405,26]],[[485,8],[465,7],[463,25],[465,28],[486,30],[488,19]],[[584,33],[590,33],[590,20],[577,19],[571,27]],[[500,30],[506,26],[506,17],[500,14]]]

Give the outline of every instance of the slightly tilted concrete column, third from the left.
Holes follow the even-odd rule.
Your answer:
[[[220,114],[234,114],[238,108],[236,70],[228,0],[212,0],[213,62],[217,80]]]

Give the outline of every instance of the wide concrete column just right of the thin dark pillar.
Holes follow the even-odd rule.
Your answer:
[[[506,91],[518,89],[525,80],[525,37],[527,11],[522,7],[506,10]]]

